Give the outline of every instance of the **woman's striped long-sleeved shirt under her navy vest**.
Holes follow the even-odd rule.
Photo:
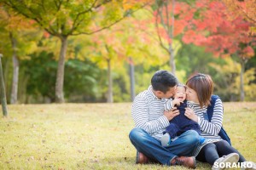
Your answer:
[[[201,136],[206,139],[221,139],[218,135],[223,122],[223,105],[220,99],[217,99],[213,108],[212,120],[209,122],[206,118],[207,107],[200,107],[199,104],[189,102],[193,105],[195,114],[198,116],[198,124],[201,127]]]

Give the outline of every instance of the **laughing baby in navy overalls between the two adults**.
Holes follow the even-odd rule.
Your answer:
[[[199,135],[201,134],[199,124],[184,115],[185,108],[189,107],[189,105],[186,100],[186,87],[183,84],[177,85],[174,99],[166,99],[165,111],[170,111],[175,106],[177,106],[177,110],[180,114],[173,117],[170,121],[170,125],[166,127],[166,131],[164,131],[164,135],[161,138],[162,146],[168,146],[177,136],[188,130],[195,130]],[[200,143],[202,144],[204,140],[205,139],[201,137]]]

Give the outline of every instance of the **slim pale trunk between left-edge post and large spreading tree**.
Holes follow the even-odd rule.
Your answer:
[[[13,48],[13,82],[12,82],[12,92],[11,92],[11,104],[16,104],[18,99],[18,86],[19,86],[19,59],[17,58],[16,48],[17,48],[17,41],[13,34],[9,32],[9,37],[12,42]]]

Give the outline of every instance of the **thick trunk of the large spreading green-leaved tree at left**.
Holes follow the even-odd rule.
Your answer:
[[[64,103],[63,82],[64,82],[64,69],[65,57],[67,52],[67,37],[61,37],[61,53],[58,62],[57,77],[55,83],[55,102]]]

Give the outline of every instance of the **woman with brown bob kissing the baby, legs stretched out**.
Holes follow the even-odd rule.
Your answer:
[[[190,77],[186,86],[187,100],[194,106],[194,110],[187,108],[185,116],[198,122],[201,127],[201,136],[207,139],[207,144],[201,148],[196,159],[213,165],[212,169],[220,169],[218,167],[220,162],[229,162],[232,165],[237,161],[246,161],[235,148],[218,135],[223,122],[223,105],[220,99],[216,99],[211,122],[206,118],[207,107],[210,105],[213,92],[212,78],[199,73]]]

